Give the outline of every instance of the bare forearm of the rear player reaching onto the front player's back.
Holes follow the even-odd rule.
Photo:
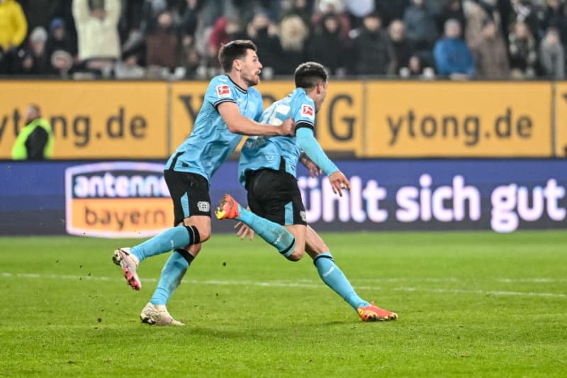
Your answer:
[[[237,104],[234,102],[223,102],[219,104],[217,109],[231,133],[263,136],[293,135],[295,123],[291,118],[283,121],[280,126],[271,126],[257,123],[250,118],[242,116]]]

